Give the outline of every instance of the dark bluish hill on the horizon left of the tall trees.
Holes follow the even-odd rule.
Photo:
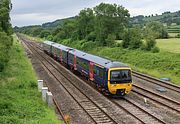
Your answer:
[[[63,25],[65,20],[73,20],[75,17],[69,17],[69,18],[64,18],[64,19],[58,19],[56,21],[53,22],[47,22],[42,24],[43,28],[54,28],[54,27],[59,27],[61,25]]]

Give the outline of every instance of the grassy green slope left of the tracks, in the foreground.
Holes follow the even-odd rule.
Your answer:
[[[15,35],[10,61],[0,73],[1,124],[59,124],[53,108],[41,100],[37,78]]]

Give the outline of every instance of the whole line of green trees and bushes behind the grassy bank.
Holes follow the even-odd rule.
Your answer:
[[[55,42],[64,39],[92,41],[99,46],[118,46],[128,49],[158,51],[156,38],[167,38],[167,31],[160,22],[149,22],[144,27],[131,25],[129,11],[117,4],[101,3],[85,8],[73,19],[66,20],[56,28],[42,26],[16,27],[15,30]]]

